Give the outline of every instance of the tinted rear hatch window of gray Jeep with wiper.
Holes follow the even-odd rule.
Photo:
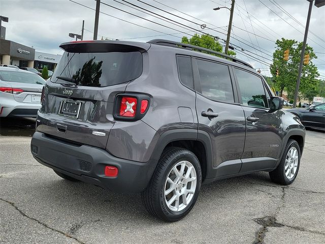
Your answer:
[[[138,78],[142,73],[142,53],[64,52],[51,81],[83,86],[110,86]],[[58,79],[56,77],[64,77]],[[67,81],[72,79],[72,81]]]

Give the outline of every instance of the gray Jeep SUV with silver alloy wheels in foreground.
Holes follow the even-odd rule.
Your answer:
[[[201,184],[256,171],[295,180],[304,126],[249,64],[166,40],[60,47],[31,153],[62,178],[141,192],[165,221],[188,214]]]

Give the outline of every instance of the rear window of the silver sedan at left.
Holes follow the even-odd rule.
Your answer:
[[[46,81],[39,75],[29,72],[0,70],[0,79],[10,82],[21,82],[45,85]]]

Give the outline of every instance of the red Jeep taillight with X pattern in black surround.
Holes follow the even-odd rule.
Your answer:
[[[114,102],[113,116],[116,119],[138,120],[148,110],[150,97],[146,94],[118,94]]]

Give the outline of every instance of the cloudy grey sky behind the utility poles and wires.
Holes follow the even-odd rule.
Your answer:
[[[222,45],[222,39],[226,39],[230,11],[212,9],[230,8],[231,0],[101,2],[98,39],[180,41],[184,35],[190,38],[201,32],[219,37]],[[143,8],[143,12],[129,3]],[[6,39],[33,46],[37,51],[61,54],[58,45],[73,40],[69,33],[81,34],[82,20],[85,20],[84,40],[92,40],[95,5],[95,0],[0,0],[0,15],[9,17],[9,22],[3,23],[7,28]],[[308,6],[307,0],[236,0],[230,42],[237,49],[237,57],[261,69],[262,74],[270,75],[268,64],[272,63],[275,41],[281,37],[303,41]],[[145,10],[170,20],[150,16]],[[202,29],[201,24],[206,24],[206,28]],[[313,62],[325,79],[325,6],[313,6],[309,30],[307,43],[318,56]]]

